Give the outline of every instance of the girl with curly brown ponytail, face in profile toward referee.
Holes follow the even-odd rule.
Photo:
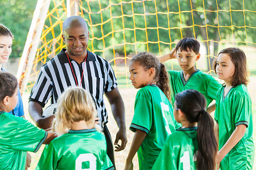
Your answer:
[[[170,88],[166,68],[150,52],[135,55],[129,65],[130,80],[138,90],[130,130],[135,132],[126,159],[125,170],[132,170],[138,154],[139,169],[151,170],[164,146],[166,137],[180,124],[173,116],[169,102]]]

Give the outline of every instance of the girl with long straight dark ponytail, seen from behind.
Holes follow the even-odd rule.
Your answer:
[[[174,117],[182,124],[166,139],[152,170],[215,170],[218,145],[214,122],[197,90],[175,95]]]

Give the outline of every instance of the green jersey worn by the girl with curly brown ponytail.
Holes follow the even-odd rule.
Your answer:
[[[174,119],[171,103],[159,87],[148,85],[137,92],[130,130],[147,133],[137,151],[140,170],[151,170],[167,136],[180,126]]]

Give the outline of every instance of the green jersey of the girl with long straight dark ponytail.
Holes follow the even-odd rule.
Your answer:
[[[179,128],[168,136],[152,170],[197,170],[197,127]]]

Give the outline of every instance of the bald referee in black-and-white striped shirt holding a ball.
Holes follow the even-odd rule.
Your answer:
[[[41,67],[29,97],[29,114],[39,128],[50,128],[54,116],[42,117],[42,108],[47,101],[51,98],[51,103],[56,103],[61,93],[69,86],[83,87],[95,100],[100,125],[107,142],[107,153],[115,166],[113,144],[106,126],[108,113],[103,101],[105,94],[119,127],[115,138],[115,151],[123,150],[127,143],[124,103],[118,91],[115,74],[109,62],[87,50],[89,31],[83,18],[67,18],[62,30],[67,50],[62,49]],[[119,140],[121,145],[118,145]]]

